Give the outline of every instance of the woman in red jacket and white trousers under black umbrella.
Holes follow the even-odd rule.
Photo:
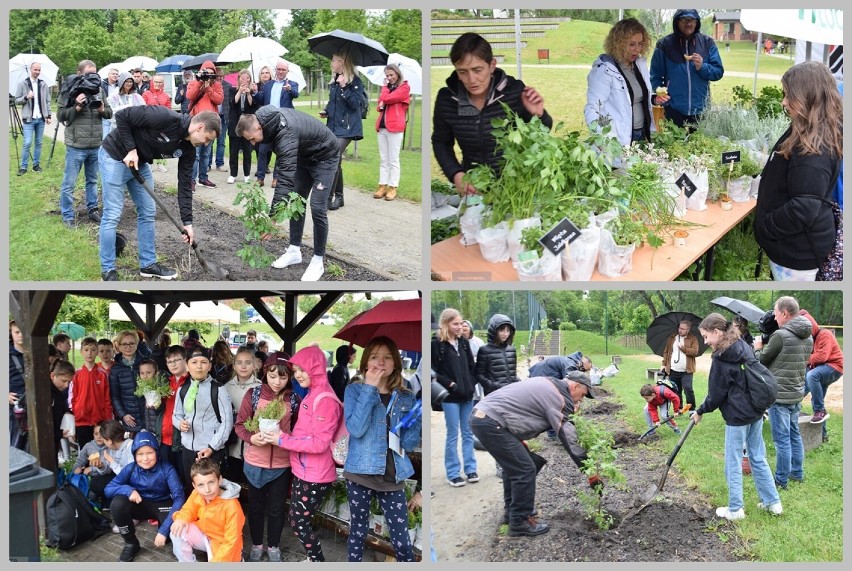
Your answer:
[[[411,89],[403,81],[402,72],[396,64],[385,66],[385,84],[379,95],[379,117],[376,119],[376,131],[379,133],[379,189],[373,198],[393,200],[399,186],[399,150],[402,148],[402,135],[405,132],[405,120],[408,104],[411,101]]]

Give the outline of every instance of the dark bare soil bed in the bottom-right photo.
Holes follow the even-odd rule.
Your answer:
[[[586,520],[577,491],[588,490],[585,477],[565,453],[558,439],[539,436],[538,452],[548,460],[536,481],[536,508],[550,532],[538,537],[509,537],[499,527],[500,510],[489,510],[494,520],[490,547],[483,546],[486,561],[740,561],[747,552],[735,544],[731,524],[715,517],[713,508],[687,486],[672,468],[663,491],[641,512],[640,498],[648,497],[660,481],[675,445],[673,439],[637,440],[613,413],[622,407],[603,389],[596,400],[583,402],[583,414],[603,423],[615,435],[618,465],[627,478],[623,487],[609,483],[603,505],[615,525],[600,531]],[[687,439],[684,446],[689,446]],[[619,489],[621,488],[621,489]],[[499,502],[498,498],[492,498]],[[459,509],[464,509],[460,507]],[[436,522],[447,525],[450,522]],[[505,529],[505,528],[504,528]],[[461,533],[461,530],[459,530]]]

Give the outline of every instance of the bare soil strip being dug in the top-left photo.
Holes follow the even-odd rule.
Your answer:
[[[170,211],[179,212],[175,195],[159,192],[162,201]],[[157,260],[178,271],[178,279],[183,281],[216,280],[206,273],[191,249],[180,240],[175,225],[159,209],[155,221]],[[237,250],[243,245],[245,231],[242,222],[217,208],[207,206],[201,201],[193,204],[193,230],[201,256],[230,272],[230,278],[239,281],[299,281],[313,256],[313,249],[302,245],[302,263],[284,269],[271,266],[251,268],[237,257]],[[127,237],[127,247],[118,257],[119,277],[125,280],[143,280],[139,276],[138,246],[136,241],[136,210],[133,202],[125,200],[124,211],[118,224],[118,231]],[[273,254],[273,259],[287,249],[289,242],[273,237],[264,243],[264,249]],[[336,267],[336,268],[335,268]],[[378,281],[389,279],[361,266],[338,259],[326,252],[326,272],[322,281]],[[337,269],[339,268],[339,270]],[[152,278],[154,279],[154,278]]]

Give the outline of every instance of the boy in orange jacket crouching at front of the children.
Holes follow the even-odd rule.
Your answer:
[[[181,563],[196,561],[193,549],[207,552],[207,561],[241,561],[246,517],[240,487],[222,478],[219,464],[196,460],[190,469],[192,494],[174,515],[170,537]]]

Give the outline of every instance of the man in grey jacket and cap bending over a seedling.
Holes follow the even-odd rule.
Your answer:
[[[470,427],[485,449],[503,467],[503,505],[508,514],[509,535],[534,536],[547,533],[535,513],[535,459],[523,440],[535,438],[548,428],[559,435],[571,460],[581,467],[586,451],[577,442],[571,416],[584,397],[595,398],[586,373],[572,371],[564,379],[533,377],[511,383],[480,400],[470,416]],[[589,486],[599,492],[603,481],[597,475]]]

